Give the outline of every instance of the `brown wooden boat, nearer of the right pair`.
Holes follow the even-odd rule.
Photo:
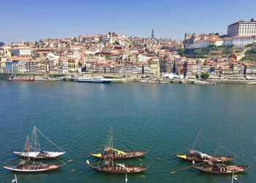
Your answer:
[[[208,163],[208,166],[193,166],[193,168],[211,174],[236,174],[246,171],[250,166],[226,166],[223,163]]]

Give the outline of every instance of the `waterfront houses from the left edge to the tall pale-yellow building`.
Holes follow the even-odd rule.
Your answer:
[[[69,74],[82,71],[118,74],[159,74],[159,62],[146,63],[68,59],[55,63],[50,59],[0,58],[0,71],[9,74]]]

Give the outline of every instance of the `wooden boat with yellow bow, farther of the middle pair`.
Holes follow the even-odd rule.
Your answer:
[[[110,147],[105,147],[110,148]],[[112,148],[113,149],[113,148]],[[113,149],[115,152],[111,154],[113,156],[113,159],[126,159],[126,158],[132,158],[132,157],[141,157],[145,155],[148,150],[129,150],[129,151],[120,151],[118,149]],[[108,158],[109,153],[99,153],[99,154],[91,154],[91,156],[99,158],[99,159],[105,159]]]

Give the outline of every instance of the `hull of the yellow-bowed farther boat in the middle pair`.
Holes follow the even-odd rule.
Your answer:
[[[127,159],[127,158],[133,158],[133,157],[141,157],[143,155],[146,155],[147,152],[148,150],[124,151],[125,155],[113,155],[113,159]],[[98,159],[106,159],[110,157],[102,154],[91,154],[91,156],[96,157]]]

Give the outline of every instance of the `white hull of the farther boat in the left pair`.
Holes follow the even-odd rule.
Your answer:
[[[18,155],[19,157],[29,157],[32,159],[50,159],[59,157],[61,155],[64,155],[65,152],[47,152],[47,154],[42,154],[40,152],[12,152],[15,155]]]

